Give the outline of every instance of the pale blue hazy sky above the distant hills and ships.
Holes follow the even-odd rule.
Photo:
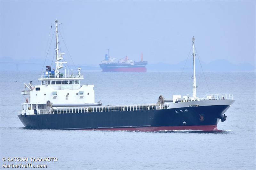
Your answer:
[[[0,57],[44,60],[51,24],[75,63],[97,66],[107,49],[149,63],[187,59],[192,36],[202,61],[256,64],[256,1],[0,1]],[[53,39],[54,40],[54,39]],[[47,43],[48,42],[48,43]],[[68,51],[62,43],[64,57]],[[47,62],[54,54],[50,49]]]

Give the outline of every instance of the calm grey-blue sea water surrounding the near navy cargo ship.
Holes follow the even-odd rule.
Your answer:
[[[83,84],[95,85],[95,102],[156,103],[158,96],[192,93],[192,73],[83,72]],[[256,169],[255,73],[197,75],[197,96],[233,93],[235,103],[220,122],[220,133],[191,131],[129,132],[31,130],[17,114],[25,98],[23,83],[37,84],[38,72],[1,72],[0,157],[56,157],[56,162],[32,162],[47,169]],[[181,76],[180,76],[181,75]],[[18,168],[7,168],[18,169]]]

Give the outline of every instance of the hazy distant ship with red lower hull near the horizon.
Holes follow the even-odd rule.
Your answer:
[[[141,61],[135,62],[133,60],[129,60],[126,56],[125,59],[120,59],[118,62],[114,62],[116,59],[113,57],[105,55],[105,60],[103,60],[100,64],[100,68],[103,72],[146,72],[147,61],[143,61],[143,54],[141,54]]]

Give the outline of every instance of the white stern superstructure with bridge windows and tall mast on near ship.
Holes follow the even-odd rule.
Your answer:
[[[78,73],[66,74],[60,72],[63,68],[62,62],[64,53],[59,51],[58,40],[58,20],[56,25],[56,70],[49,67],[40,75],[38,80],[40,85],[33,85],[30,82],[25,84],[26,90],[21,94],[27,96],[25,103],[22,103],[23,114],[37,114],[37,112],[44,112],[53,107],[85,107],[85,106],[100,106],[100,102],[95,103],[94,100],[94,85],[81,85],[81,80],[84,76],[81,75],[81,68],[78,68]],[[36,110],[34,110],[36,109]]]

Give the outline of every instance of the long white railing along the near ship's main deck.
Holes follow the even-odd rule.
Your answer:
[[[170,103],[145,104],[145,105],[113,105],[113,106],[95,106],[95,107],[56,107],[50,109],[37,109],[38,115],[44,114],[65,114],[65,113],[91,113],[91,112],[124,112],[140,110],[159,110],[167,109]],[[34,110],[19,110],[20,115],[32,115]]]

